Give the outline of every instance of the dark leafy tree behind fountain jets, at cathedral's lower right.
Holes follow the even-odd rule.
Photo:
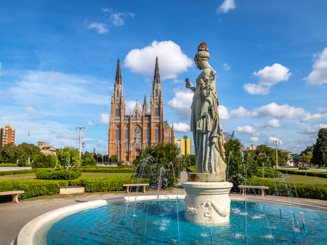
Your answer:
[[[151,188],[173,187],[178,183],[184,162],[174,143],[157,143],[147,147],[140,157],[136,173],[148,178]]]

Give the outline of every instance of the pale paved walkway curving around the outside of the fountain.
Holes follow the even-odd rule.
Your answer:
[[[182,172],[181,182],[186,181],[187,174]],[[179,183],[180,185],[180,183]],[[132,192],[131,195],[133,195]],[[158,192],[156,190],[149,190],[146,194],[155,195]],[[174,188],[170,190],[162,190],[160,194],[170,195],[182,195],[185,194],[184,189]],[[145,195],[142,192],[138,192],[138,195]],[[95,201],[100,199],[127,197],[126,192],[114,192],[114,193],[83,193],[74,195],[54,195],[47,199],[38,200],[21,200],[19,204],[15,203],[2,203],[0,204],[0,244],[9,245],[18,235],[22,227],[29,223],[35,217],[44,214],[46,212],[62,208],[65,206],[78,204],[81,202]],[[244,196],[238,193],[230,193],[232,200],[244,200]],[[58,198],[59,197],[59,198]],[[246,199],[249,201],[261,201],[265,202],[282,202],[286,204],[300,205],[301,207],[311,207],[320,211],[327,212],[327,201],[303,199],[303,198],[287,198],[276,197],[272,195],[246,195]]]

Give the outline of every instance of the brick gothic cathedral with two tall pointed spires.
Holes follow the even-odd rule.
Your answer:
[[[155,61],[151,89],[150,111],[144,95],[143,107],[136,101],[133,112],[126,113],[125,94],[118,59],[116,79],[111,95],[108,152],[121,161],[133,161],[141,156],[142,149],[157,142],[174,142],[174,126],[164,121],[164,99],[162,96],[158,58]]]

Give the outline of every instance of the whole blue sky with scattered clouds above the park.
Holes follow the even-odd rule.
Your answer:
[[[188,135],[198,45],[217,70],[224,131],[245,147],[281,140],[299,153],[327,127],[326,1],[1,1],[0,126],[16,144],[107,153],[121,59],[127,110],[150,98],[159,59],[164,114]]]

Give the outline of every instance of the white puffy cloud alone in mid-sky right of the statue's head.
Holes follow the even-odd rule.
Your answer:
[[[259,71],[253,72],[253,76],[259,79],[258,84],[247,83],[243,85],[243,88],[249,94],[268,94],[271,87],[276,83],[288,81],[292,76],[289,70],[289,68],[278,63],[266,66]]]

